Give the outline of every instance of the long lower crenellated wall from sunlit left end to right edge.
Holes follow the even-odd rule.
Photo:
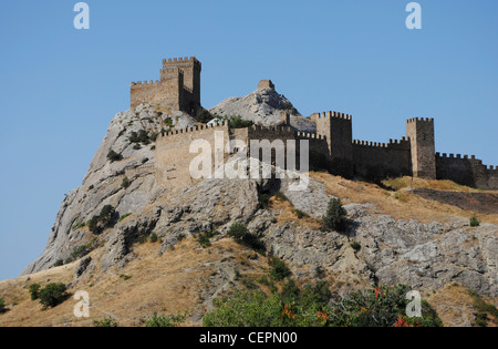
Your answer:
[[[332,115],[332,117],[331,117]],[[315,114],[313,116],[320,122],[320,120],[325,121],[318,127],[319,132],[324,132],[334,135],[340,135],[341,132],[346,129],[346,135],[342,138],[336,138],[335,142],[346,142],[349,138],[347,126],[341,122],[351,122],[351,116],[345,114],[336,113],[325,113]],[[329,121],[332,121],[329,123]],[[339,122],[333,122],[339,121]],[[419,120],[426,122],[427,120]],[[412,121],[409,123],[414,123]],[[428,120],[429,123],[433,121]],[[346,125],[346,124],[345,124]],[[295,132],[290,125],[279,125],[274,127],[263,127],[260,125],[255,125],[247,129],[230,129],[226,122],[215,124],[215,125],[203,125],[196,127],[189,127],[186,130],[178,130],[173,132],[165,132],[160,134],[157,138],[156,144],[156,178],[158,183],[164,185],[173,186],[188,186],[193,183],[189,173],[189,165],[194,157],[198,154],[190,154],[189,147],[195,140],[206,140],[208,141],[211,150],[215,150],[215,133],[220,131],[224,141],[224,154],[221,157],[226,160],[229,154],[226,152],[226,143],[230,140],[240,140],[245,144],[242,152],[247,153],[248,156],[258,157],[263,160],[263,150],[260,150],[257,154],[251,154],[250,146],[251,141],[268,141],[260,142],[263,148],[269,147],[271,151],[271,163],[276,163],[276,148],[278,144],[283,145],[283,151],[286,154],[286,168],[288,167],[287,154],[290,151],[289,141],[295,141],[295,165],[299,166],[301,158],[301,147],[299,141],[308,141],[309,144],[309,168],[310,170],[326,170],[331,173],[338,173],[344,167],[338,167],[338,150],[334,153],[333,142],[323,134],[318,133],[305,133]],[[402,137],[402,140],[390,140],[387,143],[377,142],[366,142],[354,140],[350,142],[351,146],[351,165],[353,175],[357,177],[363,177],[365,179],[381,179],[384,177],[396,177],[404,175],[412,175],[414,173],[413,161],[428,158],[430,163],[430,153],[424,153],[424,147],[419,146],[417,152],[413,152],[412,140],[422,140],[422,142],[430,142],[430,130],[422,129],[425,133],[421,136],[418,132],[421,129],[412,130],[412,137]],[[424,141],[425,140],[425,141]],[[277,141],[277,142],[276,142]],[[281,142],[280,142],[281,141]],[[332,146],[331,146],[332,144]],[[342,145],[342,151],[347,150],[345,144]],[[430,147],[430,145],[429,145]],[[239,152],[236,148],[236,152]],[[293,153],[291,153],[293,154]],[[415,155],[414,155],[415,154]],[[483,162],[476,160],[475,156],[461,156],[457,154],[454,156],[450,154],[440,155],[439,153],[433,154],[435,173],[438,179],[452,179],[463,185],[468,185],[473,187],[479,187],[485,189],[498,189],[498,170],[494,166],[487,167],[483,165]],[[347,160],[346,163],[349,163]],[[340,164],[340,163],[339,163]],[[212,154],[212,166],[215,166],[215,155]],[[215,168],[215,167],[212,167]],[[293,168],[293,167],[292,167]],[[339,168],[339,171],[338,171]],[[347,172],[339,173],[341,175],[347,176]]]

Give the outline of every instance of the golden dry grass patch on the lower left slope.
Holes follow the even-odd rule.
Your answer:
[[[163,256],[158,255],[159,246],[151,243],[135,245],[135,258],[125,268],[111,273],[96,270],[69,290],[72,295],[77,290],[89,292],[91,317],[87,319],[74,317],[73,307],[77,300],[73,298],[53,309],[42,310],[28,291],[29,285],[39,283],[44,286],[48,279],[50,283],[73,281],[77,263],[33,274],[29,281],[27,277],[20,277],[0,283],[0,297],[10,308],[0,316],[0,327],[93,326],[93,320],[108,317],[120,326],[141,326],[143,319],[154,312],[170,315],[185,311],[190,316],[197,311],[197,321],[191,322],[190,318],[186,325],[198,326],[205,310],[205,298],[209,296],[206,296],[206,289],[216,290],[217,286],[209,277],[219,274],[220,260],[228,258],[240,266],[240,273],[249,273],[255,278],[264,275],[268,268],[264,258],[249,261],[250,252],[231,239],[212,242],[209,249],[200,248],[195,239],[187,239]]]

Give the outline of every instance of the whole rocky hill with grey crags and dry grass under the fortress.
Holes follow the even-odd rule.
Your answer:
[[[313,130],[291,105],[263,89],[210,111],[271,125],[280,110],[292,110],[297,129]],[[400,183],[380,186],[326,173],[312,173],[305,192],[289,191],[289,179],[205,179],[178,191],[156,186],[155,134],[195,123],[187,114],[165,115],[151,105],[114,116],[82,186],[64,198],[42,256],[22,277],[0,283],[0,297],[11,305],[0,326],[91,325],[68,319],[69,308],[27,319],[37,309],[25,288],[49,280],[69,284],[71,291],[89,290],[100,317],[111,314],[133,325],[152,311],[188,310],[189,322],[199,325],[216,297],[238,287],[238,275],[257,278],[268,271],[263,254],[227,237],[234,223],[246,225],[301,284],[322,270],[320,278],[339,292],[403,283],[439,298],[438,290],[457,284],[496,304],[498,212],[488,207],[483,213],[465,202],[467,194],[475,197],[480,191],[415,181],[415,187],[430,193],[458,192],[465,205],[453,205]],[[496,192],[485,194],[497,197]],[[341,233],[321,229],[333,197],[347,212],[347,228]],[[113,223],[95,232],[90,223],[108,205]],[[480,226],[469,226],[471,216]],[[214,230],[220,235],[211,247],[200,246],[199,236]],[[463,325],[471,325],[468,318]]]

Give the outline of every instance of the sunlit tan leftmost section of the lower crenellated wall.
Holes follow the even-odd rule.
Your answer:
[[[190,162],[200,154],[190,153],[190,144],[196,140],[206,140],[211,146],[211,173],[215,166],[215,132],[224,134],[224,141],[229,140],[227,124],[218,126],[196,126],[186,130],[176,130],[160,134],[156,141],[156,183],[168,187],[186,187],[194,183],[189,166]],[[197,150],[196,150],[197,151]]]

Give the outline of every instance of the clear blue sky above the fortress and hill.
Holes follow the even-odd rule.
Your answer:
[[[81,185],[129,82],[162,59],[203,62],[210,107],[271,79],[303,115],[353,115],[353,137],[386,142],[435,117],[436,151],[498,165],[498,1],[0,1],[0,279],[43,250],[64,194]]]

